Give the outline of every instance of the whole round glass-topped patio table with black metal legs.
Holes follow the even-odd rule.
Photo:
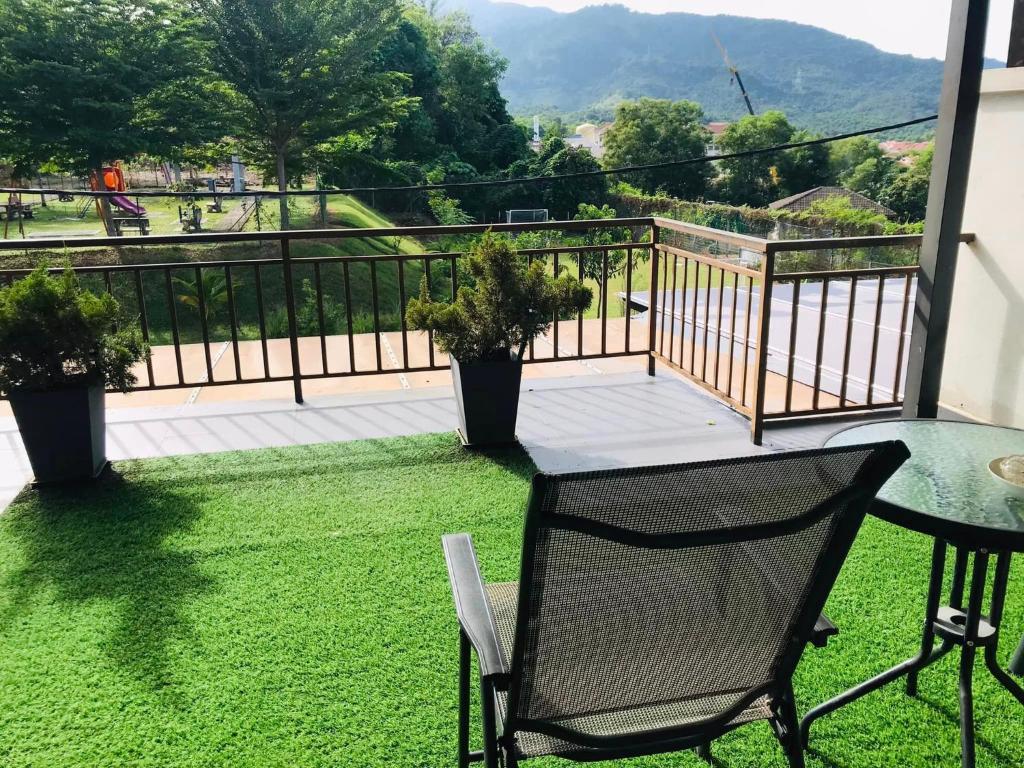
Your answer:
[[[988,469],[993,459],[1024,455],[1024,431],[910,419],[850,427],[834,434],[825,445],[883,440],[902,440],[910,450],[910,458],[879,492],[871,514],[935,539],[921,650],[913,658],[812,709],[801,722],[801,737],[806,746],[815,720],[898,678],[905,677],[907,694],[915,695],[919,674],[958,647],[961,763],[965,768],[974,768],[972,675],[978,653],[983,653],[989,673],[1024,703],[1024,688],[996,657],[1010,558],[1014,552],[1024,552],[1024,493],[994,477]],[[948,603],[942,605],[950,546],[955,561]],[[995,562],[995,572],[986,611],[990,560]],[[1024,642],[1010,669],[1024,673]]]

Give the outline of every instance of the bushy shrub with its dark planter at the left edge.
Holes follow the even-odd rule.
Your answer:
[[[85,291],[71,269],[40,266],[0,290],[0,393],[9,400],[38,483],[106,466],[103,390],[128,392],[150,350],[122,328],[118,302]]]

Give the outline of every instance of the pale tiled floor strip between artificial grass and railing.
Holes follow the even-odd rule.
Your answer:
[[[114,460],[451,431],[452,390],[421,388],[311,399],[108,411]],[[830,431],[825,428],[826,434]],[[818,430],[820,431],[820,429]],[[821,436],[823,436],[823,434]],[[550,472],[671,464],[757,453],[745,419],[668,370],[524,381],[518,436]],[[767,449],[818,441],[786,433]],[[0,418],[0,510],[31,477],[17,427]]]

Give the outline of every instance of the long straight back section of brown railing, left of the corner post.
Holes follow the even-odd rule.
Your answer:
[[[415,374],[449,368],[438,359],[432,335],[410,331],[406,323],[409,298],[426,280],[434,298],[455,299],[462,253],[390,253],[361,256],[293,255],[304,241],[482,234],[486,231],[593,232],[609,228],[649,229],[649,219],[548,222],[528,225],[465,225],[390,227],[387,229],[327,229],[275,232],[216,232],[132,238],[79,238],[0,244],[3,252],[66,253],[73,248],[133,248],[210,244],[273,243],[276,258],[185,262],[83,265],[74,269],[83,281],[118,298],[137,317],[142,337],[154,347],[153,359],[140,367],[137,390],[292,382],[302,401],[307,380],[379,374]],[[577,313],[553,318],[550,347],[530,343],[527,364],[646,355],[638,343],[628,311],[616,318],[622,330],[609,328],[609,259],[621,254],[623,280],[631,288],[648,241],[583,244],[571,247],[522,249],[529,262],[544,261],[552,274],[570,270],[597,288],[597,317]],[[51,267],[59,271],[60,267]],[[11,283],[30,270],[0,269],[0,282]],[[298,296],[302,281],[306,296]],[[329,285],[330,282],[330,285]],[[245,285],[246,300],[240,297]],[[211,286],[217,287],[219,314],[213,315]],[[358,289],[358,290],[357,290]],[[186,294],[179,293],[181,291]],[[356,293],[361,296],[357,296]],[[272,295],[271,295],[272,294]],[[190,303],[183,303],[183,299]],[[243,307],[242,305],[246,306]],[[247,315],[243,316],[243,309]],[[303,311],[305,315],[303,315]],[[187,325],[184,313],[188,313]],[[283,312],[283,316],[282,316]],[[285,326],[276,333],[271,321]],[[216,319],[216,322],[214,322]],[[329,319],[331,322],[329,322]],[[155,322],[159,321],[159,322]],[[159,333],[158,333],[159,326]],[[571,326],[571,328],[570,328]],[[186,332],[187,331],[187,332]],[[544,337],[547,339],[548,337]],[[165,343],[161,343],[165,342]],[[284,349],[287,345],[287,352]],[[228,355],[230,365],[218,365]]]

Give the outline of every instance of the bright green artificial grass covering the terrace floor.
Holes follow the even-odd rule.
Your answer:
[[[0,765],[452,766],[457,626],[439,537],[515,578],[534,468],[451,435],[117,465],[0,516]],[[808,650],[802,711],[912,653],[930,544],[869,520]],[[1024,579],[1007,637],[1024,627]],[[980,766],[1024,763],[1024,711],[977,674]],[[956,766],[955,662],[819,721],[815,768]],[[784,766],[768,726],[720,766]],[[534,763],[539,768],[561,761]],[[696,766],[690,754],[628,766]]]

